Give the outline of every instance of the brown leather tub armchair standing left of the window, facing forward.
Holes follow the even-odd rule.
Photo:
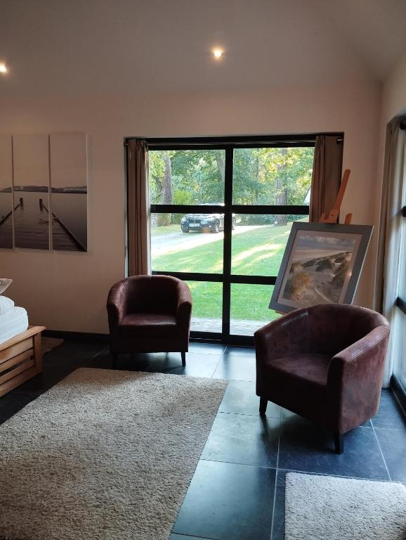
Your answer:
[[[181,352],[186,364],[192,297],[172,276],[133,276],[110,289],[107,314],[115,366],[123,352]]]

